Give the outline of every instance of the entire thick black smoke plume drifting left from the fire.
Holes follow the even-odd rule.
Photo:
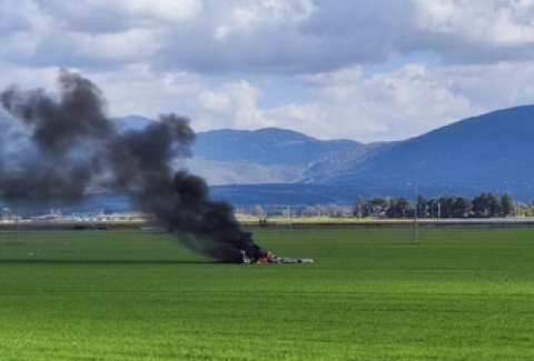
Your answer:
[[[171,161],[189,157],[195,140],[187,118],[166,114],[142,130],[119,131],[90,80],[61,70],[58,83],[56,98],[17,87],[0,94],[12,117],[0,133],[3,201],[75,202],[88,190],[127,189],[137,205],[198,252],[236,262],[240,250],[251,257],[265,253],[241,230],[231,205],[210,199],[202,179],[172,170]]]

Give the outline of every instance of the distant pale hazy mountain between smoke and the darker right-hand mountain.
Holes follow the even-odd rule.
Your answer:
[[[211,185],[295,183],[319,160],[366,149],[352,140],[317,140],[279,128],[222,129],[197,134],[186,167]]]

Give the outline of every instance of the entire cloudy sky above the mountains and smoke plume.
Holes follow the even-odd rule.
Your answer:
[[[403,140],[534,103],[534,0],[1,0],[0,86],[97,83],[110,117]]]

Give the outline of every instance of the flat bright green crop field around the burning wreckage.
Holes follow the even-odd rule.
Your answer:
[[[0,360],[533,360],[534,229],[0,232]]]

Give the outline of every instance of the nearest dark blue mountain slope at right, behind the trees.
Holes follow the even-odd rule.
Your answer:
[[[510,192],[534,199],[534,106],[468,118],[408,139],[316,184],[400,192],[415,181],[428,195]]]

